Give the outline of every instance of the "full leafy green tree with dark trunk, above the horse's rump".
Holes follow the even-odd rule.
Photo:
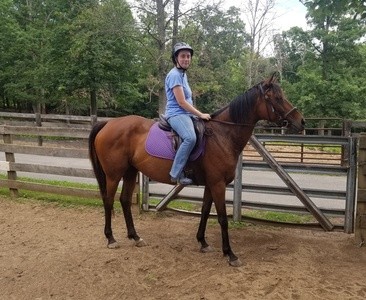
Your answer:
[[[118,89],[126,91],[132,81],[134,20],[125,1],[108,0],[85,9],[70,29],[68,85],[89,94],[90,113],[96,115],[98,93],[104,102],[115,101]]]

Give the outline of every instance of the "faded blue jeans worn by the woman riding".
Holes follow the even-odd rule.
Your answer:
[[[168,122],[182,139],[182,144],[175,154],[173,166],[169,173],[172,178],[179,179],[182,177],[184,166],[196,144],[197,138],[190,115],[182,114],[170,117]]]

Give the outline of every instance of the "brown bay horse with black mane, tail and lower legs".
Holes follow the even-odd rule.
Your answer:
[[[304,129],[303,116],[287,101],[274,76],[253,86],[212,114],[212,119],[205,123],[206,131],[210,133],[205,138],[205,152],[197,160],[188,163],[188,167],[193,170],[195,183],[205,186],[197,232],[201,251],[211,250],[205,239],[205,230],[214,202],[221,226],[222,250],[232,266],[239,266],[241,262],[230,247],[225,189],[234,179],[238,157],[259,120],[285,126],[291,133]],[[145,141],[154,122],[131,115],[97,123],[90,133],[89,154],[104,203],[104,233],[109,248],[118,247],[112,233],[111,216],[120,180],[123,179],[120,202],[127,236],[137,246],[146,245],[136,233],[131,213],[137,173],[140,171],[152,180],[171,184],[169,171],[172,161],[153,157],[145,150]]]

